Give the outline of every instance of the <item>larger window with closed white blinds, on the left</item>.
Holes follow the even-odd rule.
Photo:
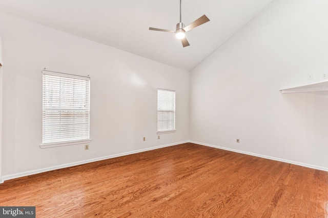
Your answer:
[[[90,78],[43,70],[42,148],[90,142]]]

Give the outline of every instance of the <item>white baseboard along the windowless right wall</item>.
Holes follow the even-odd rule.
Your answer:
[[[227,151],[231,151],[231,152],[237,152],[237,153],[241,153],[241,154],[252,155],[252,156],[255,156],[255,157],[261,157],[261,158],[265,158],[265,159],[276,160],[276,161],[285,162],[285,163],[291,163],[291,164],[295,164],[295,165],[299,165],[299,166],[305,166],[305,167],[309,167],[309,168],[313,168],[313,169],[319,169],[320,171],[328,172],[328,168],[322,167],[322,166],[316,166],[316,165],[311,165],[311,164],[306,164],[306,163],[300,163],[300,162],[296,162],[296,161],[292,161],[292,160],[285,160],[285,159],[281,159],[281,158],[276,158],[276,157],[271,157],[271,156],[266,156],[266,155],[260,155],[260,154],[240,151],[240,150],[236,150],[236,149],[230,149],[230,148],[221,147],[221,146],[214,146],[213,144],[201,143],[201,142],[197,142],[197,141],[191,141],[190,140],[189,142],[190,143],[195,143],[195,144],[200,144],[201,146],[208,146],[208,147],[212,147],[212,148],[216,148],[216,149],[222,149],[222,150],[227,150]]]

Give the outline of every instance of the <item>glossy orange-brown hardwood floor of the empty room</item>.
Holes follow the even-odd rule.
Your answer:
[[[0,184],[36,217],[328,217],[328,173],[186,143]]]

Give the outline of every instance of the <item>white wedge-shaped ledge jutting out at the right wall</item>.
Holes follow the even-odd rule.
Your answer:
[[[280,89],[281,93],[328,91],[328,80]]]

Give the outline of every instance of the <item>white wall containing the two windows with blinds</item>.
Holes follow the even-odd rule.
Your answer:
[[[189,139],[189,72],[0,12],[3,178]],[[91,77],[90,150],[41,149],[42,69]],[[157,88],[176,91],[176,133],[157,139]],[[146,137],[146,141],[142,138]]]

